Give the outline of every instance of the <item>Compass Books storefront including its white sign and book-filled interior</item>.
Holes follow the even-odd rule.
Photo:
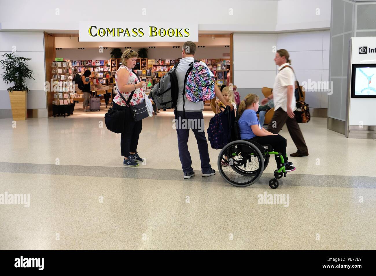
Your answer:
[[[146,33],[144,30],[154,25],[145,23],[147,26],[144,28],[132,29],[133,33],[137,31],[137,36],[127,35],[127,39],[124,39],[121,34],[129,33],[130,30],[99,28],[100,24],[103,23],[82,22],[78,35],[46,34],[52,37],[55,45],[53,60],[50,61],[51,73],[46,72],[46,78],[52,80],[54,87],[58,84],[55,90],[47,92],[49,116],[103,116],[102,113],[106,112],[118,92],[115,89],[115,73],[121,65],[121,54],[127,48],[138,52],[133,70],[147,83],[146,96],[153,86],[179,62],[182,45],[188,40],[196,43],[195,58],[208,65],[216,78],[216,84],[222,86],[230,83],[231,34],[199,34],[197,24],[193,24],[184,29],[186,37],[177,39],[173,37],[179,29],[165,27],[158,30],[150,27],[149,36],[143,38],[139,34]],[[46,68],[47,62],[46,60]],[[94,104],[89,106],[91,112],[86,112],[87,110],[83,108],[83,92],[77,84],[77,79],[80,79],[86,70],[91,72],[88,80],[92,97],[100,99],[99,107]],[[65,83],[69,83],[68,86],[64,85]],[[94,101],[91,99],[89,105],[92,100]],[[67,104],[70,108],[64,109],[62,106]],[[156,112],[159,113],[159,110]]]

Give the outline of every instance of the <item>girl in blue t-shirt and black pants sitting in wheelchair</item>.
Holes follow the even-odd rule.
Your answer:
[[[261,127],[256,115],[259,107],[258,104],[259,97],[255,94],[248,94],[244,100],[240,102],[238,108],[238,113],[241,115],[238,121],[240,139],[255,141],[261,145],[271,145],[273,150],[280,152],[285,160],[285,164],[281,164],[280,158],[274,155],[278,169],[285,165],[286,172],[295,170],[293,163],[287,161],[286,139],[279,134],[273,134]]]

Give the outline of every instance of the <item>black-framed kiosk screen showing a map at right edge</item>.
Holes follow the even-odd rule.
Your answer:
[[[376,98],[376,64],[353,64],[351,97]]]

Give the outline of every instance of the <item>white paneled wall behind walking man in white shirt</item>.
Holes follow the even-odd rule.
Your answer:
[[[329,31],[234,34],[234,79],[240,93],[261,94],[261,88],[273,87],[277,66],[276,49],[290,53],[291,66],[300,83],[327,81],[329,74]],[[327,108],[327,92],[306,92],[306,102],[313,108]]]

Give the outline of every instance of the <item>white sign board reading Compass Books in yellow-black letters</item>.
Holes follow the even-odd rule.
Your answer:
[[[184,22],[80,21],[79,41],[199,41],[199,25]]]

